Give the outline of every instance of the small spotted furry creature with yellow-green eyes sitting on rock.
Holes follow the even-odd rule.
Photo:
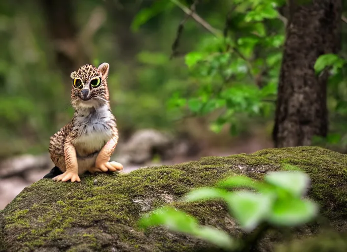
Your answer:
[[[70,75],[75,113],[69,124],[50,138],[49,153],[56,165],[51,174],[59,174],[54,181],[80,182],[78,175],[86,171],[123,169],[122,164],[109,161],[118,142],[118,130],[109,106],[108,69],[108,63],[98,68],[86,64]],[[54,171],[57,168],[58,173]]]

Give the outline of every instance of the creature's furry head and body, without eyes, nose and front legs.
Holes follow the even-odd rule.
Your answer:
[[[101,64],[98,68],[86,64],[71,73],[72,80],[82,80],[83,87],[72,84],[71,105],[75,110],[72,120],[50,138],[49,153],[54,164],[62,172],[66,171],[64,145],[72,143],[76,150],[78,174],[84,173],[95,165],[95,160],[112,137],[118,140],[116,119],[109,106],[107,75],[109,65]],[[101,84],[93,88],[90,81],[100,77]],[[83,100],[81,90],[87,89],[89,99]]]

